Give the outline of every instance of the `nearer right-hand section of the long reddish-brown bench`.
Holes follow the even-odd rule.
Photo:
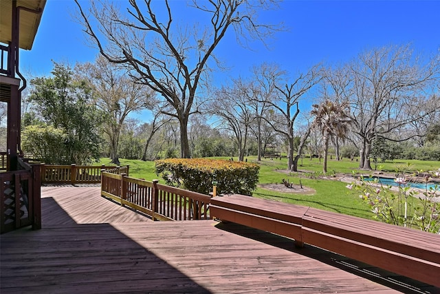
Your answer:
[[[440,235],[310,208],[302,241],[440,286]]]

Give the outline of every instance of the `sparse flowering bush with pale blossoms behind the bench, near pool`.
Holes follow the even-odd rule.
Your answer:
[[[440,176],[439,171],[430,174]],[[430,180],[428,176],[426,182]],[[383,185],[377,178],[366,181],[360,180],[347,185],[347,189],[360,191],[359,197],[369,204],[373,218],[389,224],[420,229],[432,233],[440,233],[440,185],[423,190],[412,189],[410,182],[401,174],[394,182],[397,187]],[[409,185],[408,185],[409,184]],[[438,201],[438,200],[437,200]]]

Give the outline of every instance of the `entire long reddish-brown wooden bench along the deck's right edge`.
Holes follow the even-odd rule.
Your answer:
[[[434,233],[240,195],[212,198],[210,213],[440,287],[440,235]]]

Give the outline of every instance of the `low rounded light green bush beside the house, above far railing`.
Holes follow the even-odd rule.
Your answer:
[[[28,125],[23,130],[21,147],[26,154],[47,164],[65,164],[71,162],[65,158],[67,134],[64,129],[52,125]]]

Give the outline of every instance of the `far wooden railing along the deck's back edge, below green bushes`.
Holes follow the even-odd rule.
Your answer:
[[[41,165],[41,182],[56,184],[98,184],[101,182],[101,171],[112,174],[129,174],[129,166],[106,167],[88,165]]]

